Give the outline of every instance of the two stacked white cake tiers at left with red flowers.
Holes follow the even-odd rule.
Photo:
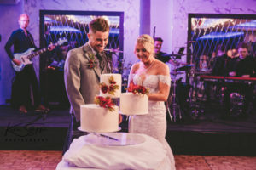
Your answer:
[[[122,77],[120,74],[102,74],[100,95],[96,104],[80,106],[81,130],[91,133],[109,133],[119,130],[119,107],[111,98],[119,98]],[[110,107],[110,108],[109,108]]]

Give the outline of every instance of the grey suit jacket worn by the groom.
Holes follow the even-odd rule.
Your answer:
[[[104,54],[106,57],[106,54]],[[89,67],[90,56],[94,56],[96,66]],[[106,57],[107,59],[107,57]],[[85,43],[84,46],[74,48],[67,53],[64,65],[64,80],[67,90],[67,97],[71,104],[71,113],[80,120],[80,105],[93,104],[96,94],[100,94],[100,77],[102,73],[111,70],[111,59],[108,59],[108,66],[101,72],[99,60],[95,52]],[[107,71],[108,67],[108,71]]]

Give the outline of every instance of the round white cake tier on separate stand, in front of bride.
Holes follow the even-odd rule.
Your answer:
[[[120,96],[120,112],[123,115],[148,114],[148,95],[122,93]]]

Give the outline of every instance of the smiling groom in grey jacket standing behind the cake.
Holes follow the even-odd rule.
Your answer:
[[[71,131],[68,133],[72,136],[80,126],[80,105],[94,103],[96,94],[99,94],[98,85],[101,74],[112,71],[112,59],[109,59],[103,52],[108,44],[108,35],[107,20],[103,18],[92,20],[87,34],[89,41],[82,47],[70,50],[67,54],[64,79],[71,104],[69,128]],[[68,138],[67,149],[71,142],[71,137]]]

